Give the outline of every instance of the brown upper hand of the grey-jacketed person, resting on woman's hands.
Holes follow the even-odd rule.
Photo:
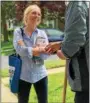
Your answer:
[[[45,47],[45,50],[47,51],[48,54],[52,54],[52,53],[56,52],[57,50],[59,50],[60,47],[61,47],[60,42],[50,43],[49,45],[47,45]]]

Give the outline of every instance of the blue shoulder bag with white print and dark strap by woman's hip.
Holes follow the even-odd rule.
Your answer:
[[[23,36],[23,30],[22,28],[20,29]],[[10,74],[9,84],[12,93],[18,93],[21,67],[22,67],[22,60],[20,56],[17,53],[9,55],[9,74]]]

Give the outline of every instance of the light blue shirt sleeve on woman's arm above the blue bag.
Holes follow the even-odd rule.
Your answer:
[[[18,45],[18,41],[23,40],[23,37],[21,35],[20,28],[15,29],[14,31],[14,37],[13,37],[13,45],[16,50],[16,52],[20,56],[28,56],[29,58],[32,58],[32,47],[26,47],[26,46],[20,46]]]

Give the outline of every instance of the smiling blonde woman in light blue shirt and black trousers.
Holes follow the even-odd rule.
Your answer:
[[[37,28],[40,21],[40,8],[37,5],[30,5],[24,11],[23,36],[20,28],[14,31],[14,48],[22,59],[18,103],[28,103],[32,84],[38,103],[47,103],[48,78],[44,59],[48,55],[44,48],[48,44],[48,38],[44,31]]]

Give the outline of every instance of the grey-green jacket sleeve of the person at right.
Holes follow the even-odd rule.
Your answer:
[[[65,37],[61,47],[62,52],[68,58],[74,56],[86,41],[86,14],[81,7],[75,7],[72,6],[66,14]]]

